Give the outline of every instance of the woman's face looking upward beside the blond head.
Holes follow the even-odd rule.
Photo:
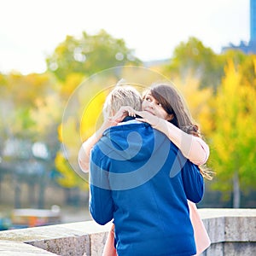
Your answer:
[[[170,114],[166,112],[166,110],[161,106],[160,102],[155,100],[154,96],[152,96],[150,92],[148,92],[144,97],[142,108],[144,111],[148,111],[161,119],[171,119]]]

